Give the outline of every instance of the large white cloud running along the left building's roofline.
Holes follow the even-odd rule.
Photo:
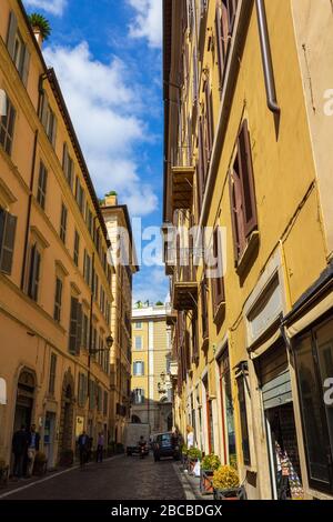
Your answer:
[[[87,42],[47,48],[44,57],[59,78],[98,194],[115,190],[134,215],[154,211],[158,198],[140,179],[134,150],[150,139],[140,118],[143,104],[124,63],[94,60]]]

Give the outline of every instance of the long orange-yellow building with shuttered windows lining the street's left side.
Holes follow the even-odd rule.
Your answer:
[[[34,423],[48,468],[108,438],[109,239],[53,70],[20,1],[0,17],[0,459]]]

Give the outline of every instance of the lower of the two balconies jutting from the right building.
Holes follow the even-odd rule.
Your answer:
[[[178,311],[195,310],[198,307],[198,282],[195,268],[179,267],[172,282],[172,305]]]

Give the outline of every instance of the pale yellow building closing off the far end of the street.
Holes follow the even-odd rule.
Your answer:
[[[169,304],[132,310],[132,422],[149,423],[152,433],[172,429]]]

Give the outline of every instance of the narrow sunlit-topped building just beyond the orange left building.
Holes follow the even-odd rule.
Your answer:
[[[130,420],[131,406],[131,350],[132,350],[132,284],[139,267],[135,261],[132,227],[127,205],[118,204],[117,194],[107,195],[101,211],[107,224],[114,255],[122,248],[123,257],[114,262],[111,307],[111,410],[110,438],[124,443],[124,426]],[[125,259],[128,258],[128,259]]]

